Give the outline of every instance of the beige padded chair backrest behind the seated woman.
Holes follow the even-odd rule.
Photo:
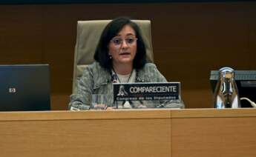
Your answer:
[[[76,47],[73,66],[73,93],[76,93],[76,82],[82,76],[82,71],[93,63],[93,55],[99,38],[105,26],[111,20],[77,21]],[[151,21],[133,20],[140,26],[142,39],[145,42],[147,60],[153,62],[153,48],[151,41]]]

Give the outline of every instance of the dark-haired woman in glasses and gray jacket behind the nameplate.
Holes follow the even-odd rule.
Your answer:
[[[113,83],[165,82],[153,63],[147,63],[140,27],[131,19],[118,18],[103,30],[94,54],[95,62],[85,68],[77,93],[70,96],[71,110],[88,110],[92,94],[105,94],[114,106]],[[127,103],[125,103],[127,105]],[[132,107],[183,107],[182,104],[133,103]]]

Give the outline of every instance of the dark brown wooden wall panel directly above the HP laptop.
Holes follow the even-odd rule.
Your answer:
[[[37,63],[42,59],[42,10],[0,6],[1,64]]]

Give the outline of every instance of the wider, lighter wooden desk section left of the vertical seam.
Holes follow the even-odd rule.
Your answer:
[[[170,118],[119,113],[22,113],[21,120],[3,113],[5,121],[0,113],[1,156],[171,156]]]

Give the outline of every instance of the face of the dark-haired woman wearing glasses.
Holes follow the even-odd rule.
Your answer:
[[[125,25],[122,30],[111,39],[108,44],[108,55],[112,56],[112,63],[133,64],[137,52],[137,38],[134,29]]]

